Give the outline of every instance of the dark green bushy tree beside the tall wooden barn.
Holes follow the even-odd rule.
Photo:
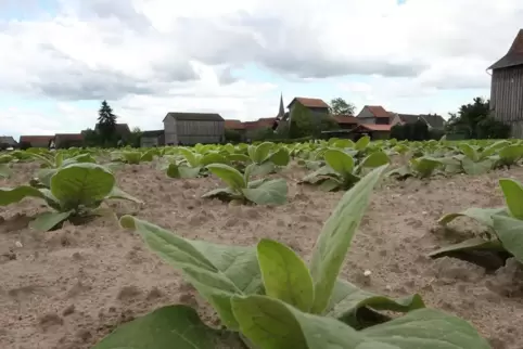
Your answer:
[[[490,115],[489,101],[481,96],[449,115],[445,127],[449,133],[461,133],[468,139],[501,139],[510,134],[510,126],[496,120]]]

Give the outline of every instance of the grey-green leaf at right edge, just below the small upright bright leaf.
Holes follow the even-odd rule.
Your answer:
[[[505,249],[523,263],[523,221],[506,216],[494,216],[494,230]]]

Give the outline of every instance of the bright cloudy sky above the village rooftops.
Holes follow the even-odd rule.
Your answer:
[[[168,111],[271,117],[280,92],[447,116],[488,96],[521,0],[0,0],[0,135]]]

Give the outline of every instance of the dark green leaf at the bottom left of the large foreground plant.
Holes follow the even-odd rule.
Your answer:
[[[167,306],[118,326],[92,349],[209,349],[219,333],[187,306]]]

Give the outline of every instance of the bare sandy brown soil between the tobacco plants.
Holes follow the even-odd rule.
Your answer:
[[[0,186],[26,183],[35,168],[15,166],[16,174],[0,179]],[[200,198],[218,180],[173,180],[152,164],[126,166],[117,172],[119,186],[145,204],[110,206],[189,238],[241,245],[276,238],[308,259],[342,193],[297,185],[303,173],[298,168],[283,172],[291,179],[285,206],[239,207]],[[514,277],[523,280],[521,269],[511,264],[486,274],[468,262],[423,257],[445,243],[435,223],[442,214],[502,205],[501,177],[523,181],[523,169],[384,181],[355,237],[344,277],[390,296],[418,292],[430,307],[471,321],[494,348],[522,349],[523,286],[514,283]],[[44,209],[36,199],[0,208],[0,348],[90,348],[116,325],[169,303],[192,305],[205,313],[205,302],[178,273],[115,219],[30,231],[29,217]],[[362,277],[365,270],[372,272],[370,280]]]

